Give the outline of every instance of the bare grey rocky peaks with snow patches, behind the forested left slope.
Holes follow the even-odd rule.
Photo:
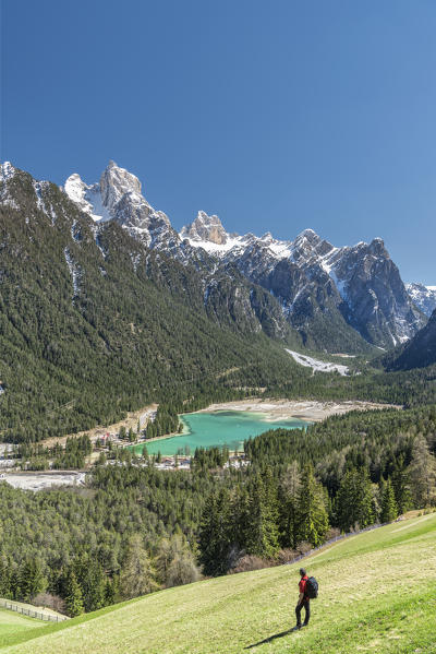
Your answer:
[[[147,248],[165,252],[202,273],[209,312],[222,304],[243,304],[250,320],[268,335],[282,336],[284,323],[303,345],[328,352],[389,349],[407,342],[426,322],[436,294],[404,286],[380,238],[338,248],[305,229],[293,240],[271,234],[228,234],[216,215],[199,211],[178,233],[168,216],[142,194],[137,177],[110,162],[100,180],[85,183],[77,174],[64,191],[98,226],[120,224]],[[238,274],[239,273],[239,274]],[[235,286],[255,284],[276,301]],[[428,296],[428,297],[426,297]],[[426,299],[425,299],[426,298]]]

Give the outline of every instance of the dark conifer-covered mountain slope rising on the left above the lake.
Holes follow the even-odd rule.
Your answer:
[[[218,307],[211,317],[195,267],[150,251],[118,221],[96,223],[55,185],[12,167],[0,181],[4,439],[116,421],[149,401],[217,387],[233,368],[253,385],[304,377],[243,306],[256,296],[261,314],[270,301],[263,289],[242,281],[232,313]]]

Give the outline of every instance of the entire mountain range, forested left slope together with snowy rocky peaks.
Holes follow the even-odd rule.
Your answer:
[[[178,233],[113,162],[99,182],[73,175],[63,188],[5,163],[1,437],[88,429],[149,402],[175,415],[258,389],[395,401],[401,388],[388,378],[378,390],[364,374],[354,390],[339,377],[326,387],[286,349],[401,356],[433,338],[416,294],[380,239],[337,248],[311,229],[287,241],[239,236],[204,212]],[[413,366],[393,355],[390,367]]]

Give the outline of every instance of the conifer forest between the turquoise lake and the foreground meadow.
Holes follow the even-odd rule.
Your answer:
[[[0,596],[47,590],[74,614],[195,580],[199,566],[222,574],[283,562],[331,527],[435,506],[435,433],[434,407],[355,412],[247,441],[242,469],[223,468],[218,450],[172,473],[122,450],[87,488],[2,483]]]

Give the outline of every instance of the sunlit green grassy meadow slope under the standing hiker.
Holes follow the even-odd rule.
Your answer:
[[[306,567],[320,596],[301,632],[288,633],[294,564],[155,593],[22,637],[2,654],[436,652],[435,513],[343,540]]]

